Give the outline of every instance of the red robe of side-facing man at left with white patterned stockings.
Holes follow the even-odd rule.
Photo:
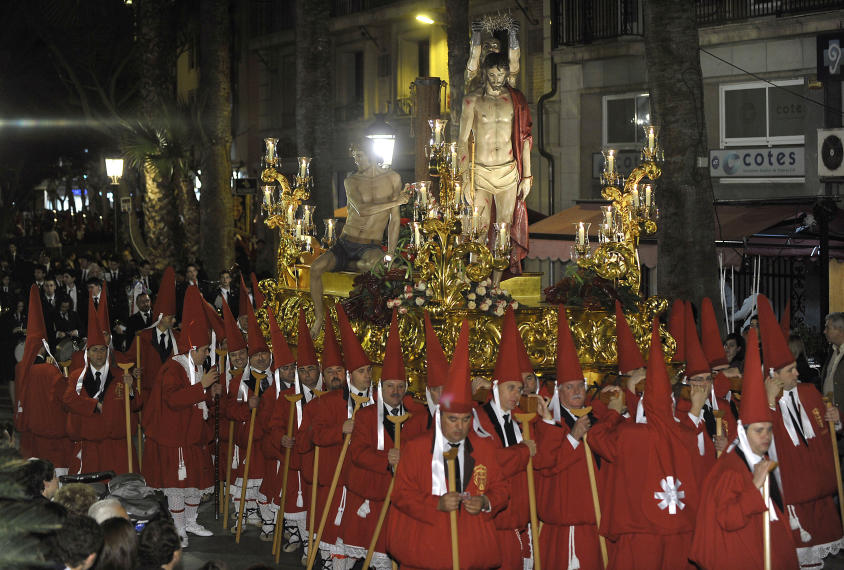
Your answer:
[[[143,474],[150,487],[205,490],[213,486],[214,468],[208,446],[213,433],[197,406],[200,402],[205,402],[208,417],[212,417],[213,403],[202,384],[191,385],[184,367],[176,360],[168,360],[158,373],[144,410],[147,437]],[[180,463],[185,468],[184,477],[179,474]]]

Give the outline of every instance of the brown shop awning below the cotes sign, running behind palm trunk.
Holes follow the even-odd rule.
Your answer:
[[[593,247],[596,228],[601,222],[601,202],[580,203],[529,228],[529,259],[569,261],[574,245],[574,224],[592,224]],[[716,212],[716,246],[724,254],[724,263],[740,265],[745,255],[812,256],[817,255],[817,229],[808,226],[804,214],[811,213],[811,204],[719,204]],[[830,257],[844,259],[844,212],[838,210],[830,222]],[[657,243],[646,238],[639,244],[639,261],[655,267]]]

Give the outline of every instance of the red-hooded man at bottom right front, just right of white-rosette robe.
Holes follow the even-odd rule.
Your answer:
[[[767,459],[773,414],[762,383],[759,345],[751,329],[745,361],[738,439],[710,471],[701,488],[690,558],[701,568],[761,568],[763,513],[769,512],[772,569],[794,569],[797,555],[776,476],[767,476],[770,499],[754,483]]]

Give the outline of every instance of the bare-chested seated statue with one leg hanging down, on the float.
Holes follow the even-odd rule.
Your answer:
[[[409,186],[402,188],[401,177],[394,170],[376,162],[372,141],[363,138],[350,147],[357,171],[343,181],[348,214],[343,231],[331,248],[311,264],[311,299],[314,302],[316,337],[325,322],[322,304],[322,275],[326,271],[365,272],[395,255],[401,224],[400,207],[410,199]],[[387,253],[381,244],[387,230]]]

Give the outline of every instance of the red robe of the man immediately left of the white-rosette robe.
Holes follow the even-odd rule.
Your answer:
[[[620,415],[609,414],[597,402],[593,404],[599,421],[611,422],[611,426],[623,421]],[[565,414],[561,424],[536,424],[536,445],[540,450],[534,457],[536,505],[539,518],[544,523],[539,535],[540,559],[546,568],[568,568],[571,555],[569,536],[573,528],[574,551],[580,567],[601,568],[586,448],[582,441],[576,448],[572,447],[568,438],[571,433],[568,421],[571,418],[566,418],[568,413],[565,410],[561,412]],[[592,464],[600,482],[601,471],[594,458]]]

